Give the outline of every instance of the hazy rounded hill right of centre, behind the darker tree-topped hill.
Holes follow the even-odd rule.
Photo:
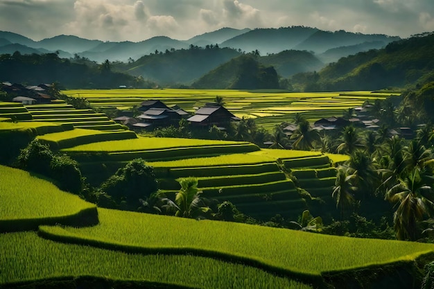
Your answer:
[[[296,73],[319,71],[324,67],[318,58],[308,51],[286,50],[276,54],[261,56],[259,62],[276,69],[279,76],[288,78]]]

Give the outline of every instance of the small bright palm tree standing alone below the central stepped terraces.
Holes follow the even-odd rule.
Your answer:
[[[175,216],[200,218],[211,212],[211,209],[207,207],[204,200],[200,198],[202,191],[198,190],[198,179],[186,177],[177,179],[177,181],[181,185],[181,190],[175,196],[175,203],[177,204]]]

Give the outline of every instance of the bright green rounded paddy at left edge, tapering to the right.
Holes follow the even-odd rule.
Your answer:
[[[24,170],[0,166],[0,232],[70,223],[80,213],[95,209],[94,204],[60,191],[51,182]]]

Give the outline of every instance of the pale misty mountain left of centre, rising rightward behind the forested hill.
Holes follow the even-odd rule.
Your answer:
[[[129,58],[141,58],[155,51],[184,49],[188,46],[189,44],[180,40],[173,40],[166,36],[157,36],[142,42],[105,42],[89,51],[78,54],[97,62],[103,62],[106,59],[126,62]]]

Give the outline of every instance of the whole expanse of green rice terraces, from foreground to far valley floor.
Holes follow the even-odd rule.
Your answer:
[[[85,98],[97,110],[131,110],[145,100],[158,99],[186,112],[222,96],[225,107],[238,119],[254,119],[268,130],[291,121],[296,114],[315,122],[376,99],[396,97],[370,91],[290,94],[108,89],[62,93]],[[249,141],[152,137],[149,132],[134,133],[104,119],[105,114],[76,110],[62,100],[46,105],[1,103],[0,113],[3,136],[17,141],[24,136],[35,138],[53,152],[68,155],[78,161],[83,177],[94,185],[130,161],[145,159],[154,169],[160,195],[165,196],[154,200],[148,197],[149,213],[158,202],[177,198],[180,179],[195,177],[204,198],[229,201],[257,220],[273,220],[277,214],[297,220],[303,211],[320,213],[333,201],[336,167],[349,160],[346,155],[318,149],[271,149]],[[80,121],[83,118],[86,125]],[[26,161],[30,166],[31,159]],[[428,243],[327,236],[276,225],[271,228],[206,220],[211,216],[206,214],[198,221],[132,212],[128,206],[124,207],[128,211],[97,208],[60,191],[40,175],[0,168],[2,288],[40,288],[37,283],[43,288],[67,283],[86,286],[89,282],[138,288],[346,288],[347,282],[361,286],[365,281],[356,279],[374,276],[397,285],[410,282],[419,260],[433,256],[434,245]],[[55,175],[51,177],[55,179]],[[104,184],[106,189],[110,185]],[[80,195],[87,200],[96,198]],[[98,207],[111,206],[108,199],[97,202]],[[169,202],[164,204],[169,206]],[[333,208],[333,204],[327,208]],[[315,222],[307,226],[320,232],[320,225]],[[399,281],[393,280],[396,278]]]

